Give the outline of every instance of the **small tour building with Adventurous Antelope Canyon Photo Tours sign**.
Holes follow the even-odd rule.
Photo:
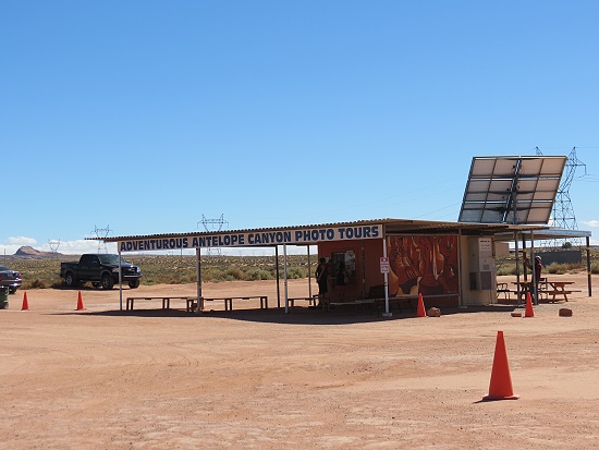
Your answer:
[[[293,245],[307,246],[308,256],[309,247],[316,246],[318,258],[330,264],[331,282],[343,268],[346,275],[343,301],[364,299],[372,290],[379,290],[386,299],[421,294],[427,306],[467,306],[496,302],[494,257],[505,252],[510,242],[515,245],[516,255],[522,242],[523,248],[528,245],[534,256],[536,241],[573,236],[586,238],[588,256],[590,232],[586,231],[406,219],[117,236],[103,241],[115,242],[119,254],[195,248],[198,299],[201,297],[200,248],[274,247],[277,255],[280,248],[286,255],[288,246]],[[285,269],[283,267],[283,273]],[[331,289],[331,295],[341,294]],[[284,296],[286,309],[286,294]]]

